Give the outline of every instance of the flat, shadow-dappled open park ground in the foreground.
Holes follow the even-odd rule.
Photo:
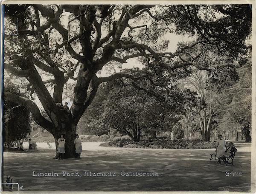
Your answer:
[[[209,161],[214,149],[132,149],[83,142],[81,159],[54,160],[55,149],[38,143],[32,152],[4,152],[3,176],[10,175],[34,191],[231,191],[250,192],[251,144],[235,142],[234,166]],[[26,148],[26,145],[24,146]],[[33,176],[33,171],[55,172],[58,177]],[[116,176],[84,176],[84,172],[112,172]],[[81,176],[63,176],[79,172]],[[121,172],[154,172],[159,176],[121,176]],[[229,176],[226,176],[229,172]],[[232,174],[241,172],[241,176]],[[117,176],[119,175],[119,176]],[[234,175],[234,176],[233,176]],[[17,191],[15,185],[13,191]]]

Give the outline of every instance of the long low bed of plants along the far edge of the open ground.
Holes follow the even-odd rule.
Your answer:
[[[153,148],[153,149],[209,149],[215,148],[216,141],[205,142],[202,140],[171,141],[170,138],[159,138],[157,140],[141,140],[134,142],[131,139],[119,138],[110,142],[102,143],[100,146],[126,147],[126,148]]]

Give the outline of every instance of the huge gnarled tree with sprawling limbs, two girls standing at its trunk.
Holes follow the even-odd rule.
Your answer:
[[[9,92],[4,98],[26,106],[35,122],[52,133],[56,145],[64,133],[67,157],[73,155],[76,125],[99,84],[130,79],[140,87],[141,79],[147,79],[128,73],[96,76],[102,68],[139,58],[149,69],[165,69],[167,74],[191,66],[208,70],[180,56],[199,44],[212,45],[219,53],[229,50],[233,56],[251,48],[245,42],[251,33],[249,5],[6,5],[5,16],[5,71],[23,78],[49,119],[32,98]],[[17,19],[18,34],[13,36]],[[168,32],[197,39],[170,53]],[[62,111],[58,103],[62,104],[64,86],[71,81],[73,104],[70,112]]]

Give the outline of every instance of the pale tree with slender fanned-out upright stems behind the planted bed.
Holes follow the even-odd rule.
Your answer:
[[[183,55],[183,59],[192,59],[201,67],[209,70],[192,69],[192,73],[185,79],[187,86],[198,94],[196,112],[201,127],[203,141],[211,137],[214,117],[218,114],[216,99],[224,88],[238,81],[236,67],[232,59],[225,55],[217,55],[218,50],[207,45],[190,49]]]

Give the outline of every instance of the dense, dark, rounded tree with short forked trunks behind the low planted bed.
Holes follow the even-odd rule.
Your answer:
[[[141,131],[168,131],[180,120],[187,99],[181,91],[169,97],[169,101],[159,101],[134,87],[114,86],[104,102],[104,123],[125,131],[134,141],[139,141]],[[175,106],[174,106],[175,104]],[[189,108],[189,107],[186,107]]]

